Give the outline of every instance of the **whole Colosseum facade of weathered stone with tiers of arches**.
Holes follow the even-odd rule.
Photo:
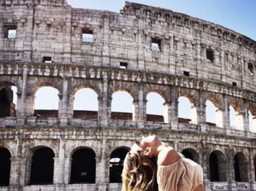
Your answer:
[[[254,40],[131,2],[120,13],[66,0],[0,4],[0,191],[120,191],[124,156],[152,134],[202,165],[206,190],[256,190]],[[58,90],[58,110],[34,109],[46,86]],[[98,111],[74,110],[83,88],[97,94]],[[119,91],[133,98],[132,113],[112,112]],[[151,92],[164,115],[147,114]],[[191,119],[178,116],[182,96]]]

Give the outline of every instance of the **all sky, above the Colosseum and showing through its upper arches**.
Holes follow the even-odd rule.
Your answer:
[[[67,0],[67,2],[73,8],[109,10],[112,12],[119,12],[124,5],[124,0]],[[187,14],[224,26],[256,40],[256,0],[131,0],[130,2],[167,8],[174,12]],[[55,95],[55,98],[52,99],[51,97],[51,100],[44,100],[47,98],[47,96],[44,96],[46,95],[45,92],[48,95]],[[39,89],[36,93],[35,109],[58,109],[57,94],[58,90],[52,90],[51,88]],[[162,97],[152,93],[148,95],[147,99],[147,113],[162,115]],[[89,101],[85,102],[84,100]],[[132,97],[127,93],[116,93],[113,95],[113,100],[115,101],[112,103],[112,111],[132,112]],[[46,103],[49,103],[49,105],[46,105]],[[98,110],[98,106],[95,106],[97,104],[96,95],[93,91],[80,90],[75,96],[74,109],[96,111]],[[210,102],[207,102],[206,105],[206,119],[214,123],[216,108]],[[190,118],[190,102],[188,99],[180,97],[179,108],[182,108],[179,109],[179,117]],[[234,126],[235,113],[232,108],[230,115],[231,125]]]

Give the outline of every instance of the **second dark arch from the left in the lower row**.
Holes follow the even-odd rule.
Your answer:
[[[34,152],[31,162],[30,185],[51,185],[53,183],[54,152],[43,147]]]

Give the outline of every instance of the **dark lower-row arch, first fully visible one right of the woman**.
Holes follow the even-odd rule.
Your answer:
[[[221,151],[213,151],[209,157],[210,181],[226,181],[226,161]]]

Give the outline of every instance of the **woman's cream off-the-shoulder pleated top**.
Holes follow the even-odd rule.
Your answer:
[[[158,166],[157,183],[159,191],[193,191],[203,184],[203,169],[182,157],[176,163]]]

